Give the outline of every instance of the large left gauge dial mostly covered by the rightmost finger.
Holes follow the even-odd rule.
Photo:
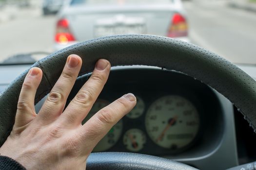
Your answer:
[[[109,102],[104,100],[97,100],[89,114],[86,116],[86,118],[82,121],[82,124],[84,124],[87,120],[89,120],[94,114],[96,114],[100,109],[107,106]],[[93,152],[102,152],[110,149],[112,146],[114,146],[118,139],[121,136],[122,133],[122,126],[123,122],[122,119],[118,121],[118,123],[113,126],[110,131],[107,133],[106,136],[104,136],[98,144],[93,149]]]

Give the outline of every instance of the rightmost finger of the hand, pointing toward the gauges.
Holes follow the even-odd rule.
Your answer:
[[[136,105],[136,97],[128,93],[115,102],[99,110],[79,130],[81,141],[86,141],[83,150],[93,149],[109,130]],[[82,146],[83,147],[83,146]]]

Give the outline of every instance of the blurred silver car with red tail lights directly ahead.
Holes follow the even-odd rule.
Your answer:
[[[71,0],[59,12],[55,50],[113,34],[155,34],[189,41],[180,0]]]

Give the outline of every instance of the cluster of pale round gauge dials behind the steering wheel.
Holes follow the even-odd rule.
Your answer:
[[[152,148],[181,151],[197,138],[200,117],[193,102],[177,94],[164,95],[148,103],[136,96],[137,105],[113,126],[93,152],[119,151],[145,153]],[[86,123],[110,102],[98,99],[83,120]],[[144,151],[144,152],[143,152]]]

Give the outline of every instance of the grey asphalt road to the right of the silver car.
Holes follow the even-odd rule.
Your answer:
[[[256,64],[256,13],[225,0],[184,1],[191,42],[234,63]]]

